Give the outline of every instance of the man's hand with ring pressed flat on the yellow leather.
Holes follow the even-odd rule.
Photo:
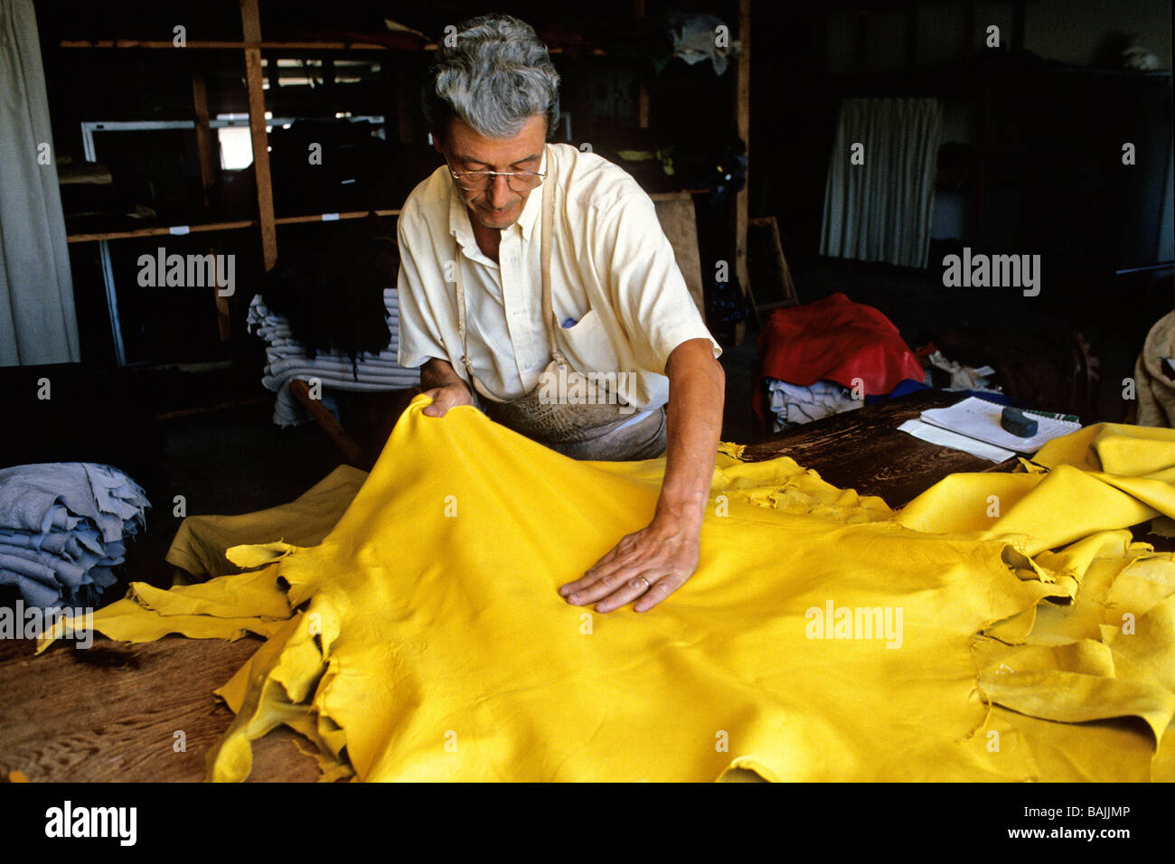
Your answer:
[[[559,594],[572,605],[599,601],[597,612],[632,601],[637,601],[634,611],[647,611],[697,570],[700,531],[700,517],[654,516],[647,528],[622,537],[582,578],[559,588]]]

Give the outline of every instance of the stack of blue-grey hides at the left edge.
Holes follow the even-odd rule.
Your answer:
[[[0,470],[0,584],[15,585],[31,607],[96,604],[148,507],[139,484],[109,466]]]

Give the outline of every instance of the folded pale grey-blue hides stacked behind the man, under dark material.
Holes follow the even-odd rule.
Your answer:
[[[330,389],[384,393],[418,387],[419,369],[405,369],[396,362],[400,350],[400,299],[395,288],[385,288],[383,302],[388,309],[388,328],[391,340],[378,354],[364,351],[352,363],[342,351],[318,351],[310,357],[306,348],[294,339],[289,321],[269,310],[261,295],[249,304],[248,327],[268,343],[267,364],[261,383],[277,394],[274,403],[274,422],[277,426],[295,426],[309,420],[306,410],[290,393],[290,381],[300,379],[308,383],[321,382],[322,402],[335,410],[329,396]]]

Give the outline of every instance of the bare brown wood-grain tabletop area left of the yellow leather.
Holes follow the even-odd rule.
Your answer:
[[[35,642],[0,639],[0,772],[38,782],[199,782],[233,712],[213,690],[262,641],[168,636],[132,645],[95,637],[36,657]],[[186,736],[176,749],[175,732]],[[250,781],[314,782],[318,769],[289,729],[254,743]]]

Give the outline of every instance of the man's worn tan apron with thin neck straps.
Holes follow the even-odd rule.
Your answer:
[[[665,407],[625,426],[633,417],[619,398],[605,388],[571,369],[566,356],[555,343],[555,310],[551,303],[551,226],[555,214],[553,182],[543,183],[543,220],[539,255],[543,264],[543,321],[551,361],[538,377],[538,384],[522,398],[499,400],[474,375],[469,361],[465,329],[465,289],[461,280],[461,248],[454,259],[457,287],[457,331],[461,335],[461,362],[474,388],[486,401],[486,414],[497,423],[545,444],[565,456],[579,460],[630,461],[656,458],[665,451]],[[598,371],[610,371],[600,369]],[[616,370],[619,373],[620,370]],[[549,377],[550,376],[550,377]],[[568,391],[584,393],[584,404],[544,400],[544,381],[566,381]]]

